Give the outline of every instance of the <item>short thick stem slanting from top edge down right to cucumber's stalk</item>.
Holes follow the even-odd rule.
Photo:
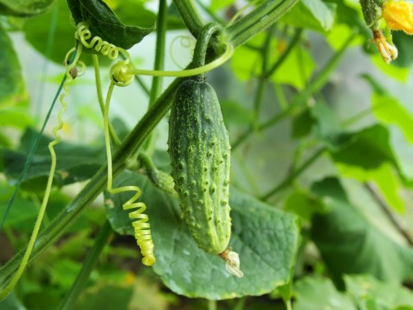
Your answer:
[[[198,39],[205,22],[193,0],[173,0],[189,32]]]

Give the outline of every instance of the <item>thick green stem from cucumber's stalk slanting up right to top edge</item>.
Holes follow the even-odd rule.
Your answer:
[[[268,28],[297,4],[298,0],[273,0],[264,3],[226,28],[234,46],[240,45]]]

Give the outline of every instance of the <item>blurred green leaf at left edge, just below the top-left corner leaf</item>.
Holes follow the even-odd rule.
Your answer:
[[[0,24],[0,111],[25,103],[25,92],[21,66],[14,52],[12,41]],[[3,122],[1,122],[3,125]]]

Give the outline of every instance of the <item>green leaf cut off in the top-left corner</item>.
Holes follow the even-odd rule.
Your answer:
[[[0,14],[29,17],[49,10],[54,0],[0,0]]]

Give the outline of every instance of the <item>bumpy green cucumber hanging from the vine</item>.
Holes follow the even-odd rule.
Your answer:
[[[231,146],[211,85],[190,79],[178,87],[168,144],[184,220],[201,249],[221,254],[231,236]]]

